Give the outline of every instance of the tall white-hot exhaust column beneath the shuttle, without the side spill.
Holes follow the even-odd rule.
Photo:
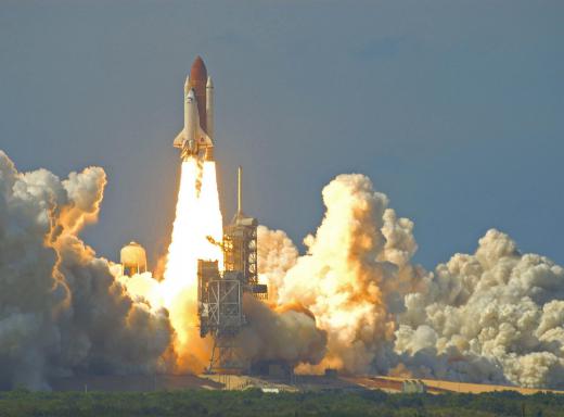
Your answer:
[[[172,239],[161,282],[161,296],[177,332],[175,350],[181,362],[187,362],[182,361],[184,355],[201,356],[194,352],[201,344],[196,331],[197,260],[217,260],[221,267],[221,249],[207,237],[219,242],[222,235],[215,162],[182,162]]]

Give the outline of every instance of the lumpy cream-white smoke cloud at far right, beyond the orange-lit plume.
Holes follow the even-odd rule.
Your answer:
[[[484,357],[524,387],[562,384],[563,285],[561,266],[521,254],[507,235],[489,230],[473,255],[456,254],[436,267],[426,291],[406,296],[396,350],[418,352],[410,340],[425,329],[438,354]]]

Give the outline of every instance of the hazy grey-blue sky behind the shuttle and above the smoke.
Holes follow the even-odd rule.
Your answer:
[[[562,1],[2,1],[0,149],[21,170],[100,165],[84,233],[154,258],[170,232],[182,85],[216,87],[223,215],[299,242],[321,188],[368,175],[415,223],[427,267],[490,227],[564,264]]]

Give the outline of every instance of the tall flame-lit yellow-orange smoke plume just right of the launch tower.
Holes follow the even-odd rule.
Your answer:
[[[379,261],[386,244],[381,228],[387,198],[374,192],[367,177],[342,175],[323,189],[323,222],[316,236],[304,241],[307,254],[285,274],[284,268],[266,270],[265,264],[259,268],[271,286],[281,282],[274,290],[278,303],[304,305],[313,313],[318,326],[328,331],[328,354],[322,366],[366,372],[395,330],[382,288],[396,275],[397,267]],[[280,252],[281,245],[272,245],[272,239],[260,239],[266,235],[259,235],[259,261],[269,258],[265,253],[271,251],[265,244],[273,248],[274,255]],[[275,242],[280,241],[285,242],[283,248],[289,247],[285,237]]]

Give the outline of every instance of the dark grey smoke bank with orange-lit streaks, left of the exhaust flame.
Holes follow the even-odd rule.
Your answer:
[[[65,180],[18,173],[0,151],[0,387],[162,366],[166,311],[133,301],[77,235],[97,218],[104,185],[98,167]]]

